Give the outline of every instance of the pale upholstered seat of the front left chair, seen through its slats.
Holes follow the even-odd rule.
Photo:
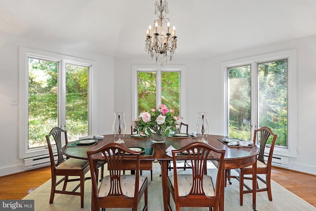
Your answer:
[[[111,182],[110,176],[107,175],[103,177],[100,189],[99,189],[99,197],[106,197],[110,191]],[[146,176],[139,175],[139,187],[138,190],[141,189],[145,182]],[[135,175],[121,175],[120,176],[120,183],[122,188],[122,193],[127,197],[134,197],[135,191]]]

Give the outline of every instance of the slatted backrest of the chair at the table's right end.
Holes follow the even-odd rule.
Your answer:
[[[259,132],[260,132],[260,134],[259,134]],[[272,143],[271,143],[271,147],[270,147],[268,162],[266,164],[265,159],[264,159],[264,153],[265,153],[265,148],[267,145],[267,140],[268,140],[270,135],[273,136],[273,139],[272,139]],[[266,164],[267,166],[271,166],[273,150],[274,150],[275,144],[276,144],[276,136],[277,135],[274,134],[269,127],[261,127],[259,129],[256,129],[254,132],[253,142],[256,144],[257,138],[259,138],[259,142],[260,142],[258,161],[261,161],[262,163]]]

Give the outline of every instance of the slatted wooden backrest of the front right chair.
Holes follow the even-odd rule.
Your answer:
[[[174,164],[174,169],[177,167],[176,154],[181,152],[186,152],[189,155],[192,164],[192,174],[193,182],[192,188],[189,195],[205,195],[203,190],[203,175],[207,165],[207,159],[209,157],[214,157],[214,160],[218,160],[218,171],[215,184],[215,198],[218,197],[219,203],[219,193],[220,184],[224,167],[224,156],[225,150],[216,149],[206,143],[194,142],[182,147],[178,150],[172,150],[172,159]],[[195,152],[195,153],[193,153]],[[197,153],[199,152],[199,153]],[[178,175],[177,171],[174,171],[174,191],[178,195]]]

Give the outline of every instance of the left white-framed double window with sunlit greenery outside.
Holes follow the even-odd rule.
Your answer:
[[[20,158],[47,154],[45,135],[67,129],[69,140],[90,132],[91,63],[20,48]]]

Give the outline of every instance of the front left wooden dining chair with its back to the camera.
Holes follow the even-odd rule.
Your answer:
[[[138,204],[144,195],[147,211],[148,181],[146,176],[139,174],[140,152],[135,152],[118,143],[106,144],[95,151],[87,151],[92,178],[92,211],[100,208],[132,208],[137,211]],[[136,161],[135,174],[121,174],[125,156],[133,156]],[[110,175],[102,179],[100,188],[97,183],[97,162],[108,164]],[[93,170],[94,169],[94,170]]]

